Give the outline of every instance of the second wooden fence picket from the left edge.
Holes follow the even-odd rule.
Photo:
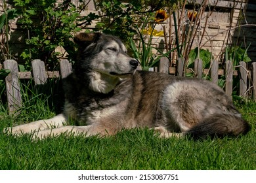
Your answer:
[[[47,81],[47,75],[45,71],[45,63],[40,59],[34,59],[32,61],[32,73],[35,84],[45,84]]]

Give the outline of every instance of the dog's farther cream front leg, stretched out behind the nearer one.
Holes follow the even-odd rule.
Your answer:
[[[67,122],[67,119],[63,114],[54,116],[48,120],[39,120],[31,122],[29,124],[18,125],[15,127],[9,127],[5,129],[7,133],[20,135],[22,133],[33,133],[35,131],[42,131],[52,127],[61,127]]]

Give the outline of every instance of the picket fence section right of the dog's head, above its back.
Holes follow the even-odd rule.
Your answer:
[[[162,61],[162,63],[161,63]],[[190,69],[186,69],[184,65],[184,59],[179,58],[177,60],[177,67],[169,67],[167,71],[165,65],[167,65],[167,58],[163,58],[160,61],[160,72],[169,73],[171,75],[184,76],[186,73],[191,73]],[[242,97],[248,97],[248,94],[252,92],[251,97],[256,100],[256,62],[252,63],[252,70],[247,69],[247,64],[244,61],[240,61],[239,70],[234,70],[232,61],[228,60],[225,63],[225,69],[219,69],[219,62],[217,60],[211,61],[210,69],[203,69],[202,59],[196,59],[194,61],[194,75],[198,78],[202,78],[203,75],[209,75],[211,82],[217,84],[219,76],[224,75],[225,87],[224,90],[228,96],[232,95],[233,90],[233,76],[240,76],[239,83],[239,95]]]

